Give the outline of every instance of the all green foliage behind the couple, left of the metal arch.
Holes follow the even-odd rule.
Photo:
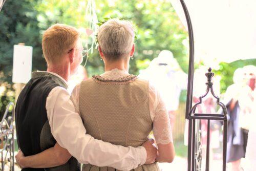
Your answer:
[[[56,23],[87,28],[86,5],[87,2],[82,0],[7,1],[0,13],[0,70],[4,72],[2,79],[11,82],[13,45],[18,42],[33,46],[33,70],[46,69],[45,60],[41,57],[42,33]],[[136,26],[138,41],[135,60],[131,61],[131,73],[138,74],[140,69],[146,67],[148,60],[157,57],[164,49],[171,50],[183,70],[187,71],[187,51],[183,45],[184,40],[187,41],[187,33],[169,1],[102,0],[96,1],[96,8],[99,20],[126,18]],[[102,72],[103,63],[99,59],[98,51],[95,50],[86,66],[90,76]],[[146,62],[141,65],[137,60]],[[143,67],[140,68],[141,66]]]

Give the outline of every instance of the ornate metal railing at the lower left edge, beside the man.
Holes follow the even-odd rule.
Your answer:
[[[10,111],[10,108],[11,111]],[[10,115],[11,114],[11,115]],[[0,154],[1,170],[9,163],[9,170],[14,170],[14,103],[7,105],[4,116],[0,122]]]

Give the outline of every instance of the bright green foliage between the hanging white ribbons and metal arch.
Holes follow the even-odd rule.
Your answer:
[[[136,60],[130,63],[131,73],[138,74],[142,69],[136,65],[137,60],[152,60],[164,49],[171,50],[187,71],[187,52],[183,45],[187,33],[168,1],[98,1],[97,7],[99,20],[104,17],[127,18],[136,26]]]

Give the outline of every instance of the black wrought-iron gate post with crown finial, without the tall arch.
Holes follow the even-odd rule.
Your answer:
[[[201,170],[202,154],[201,154],[201,128],[198,123],[200,120],[207,120],[207,145],[206,145],[206,170],[209,170],[209,153],[210,153],[210,120],[222,120],[224,122],[223,133],[223,170],[226,170],[226,149],[227,149],[227,109],[226,106],[220,102],[220,98],[214,93],[212,88],[213,83],[211,78],[214,73],[211,72],[211,68],[208,69],[206,93],[199,97],[197,102],[191,109],[188,115],[188,119],[191,121],[191,130],[189,130],[189,139],[191,139],[188,145],[191,146],[190,151],[190,163],[191,167],[188,170]],[[208,114],[208,113],[195,113],[197,106],[203,102],[203,98],[209,93],[217,99],[217,104],[221,106],[223,114]],[[201,160],[201,161],[200,161]]]

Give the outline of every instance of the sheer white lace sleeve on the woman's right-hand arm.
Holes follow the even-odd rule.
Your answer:
[[[148,88],[150,113],[153,120],[153,134],[156,143],[168,144],[173,142],[170,118],[164,101],[158,91],[150,84]]]

